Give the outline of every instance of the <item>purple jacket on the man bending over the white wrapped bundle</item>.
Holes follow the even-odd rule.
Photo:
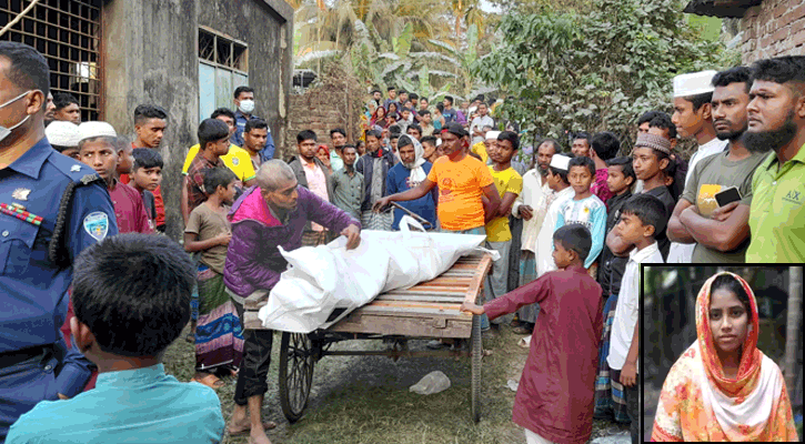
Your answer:
[[[296,192],[296,209],[284,225],[271,214],[259,186],[246,190],[232,205],[228,215],[232,239],[223,268],[223,282],[231,292],[249,297],[256,290],[271,290],[288,266],[278,246],[285,251],[302,246],[302,232],[309,220],[335,233],[351,224],[361,226],[359,221],[306,188],[298,186]]]

